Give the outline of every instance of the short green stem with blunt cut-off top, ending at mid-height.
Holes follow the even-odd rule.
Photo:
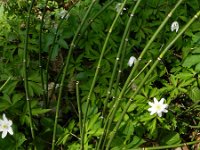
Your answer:
[[[77,105],[78,105],[78,116],[79,116],[79,126],[80,126],[80,135],[82,134],[82,109],[81,109],[81,102],[80,102],[80,95],[79,95],[79,81],[76,81],[76,99],[77,99]],[[81,137],[82,138],[82,137]],[[84,147],[84,143],[81,139],[81,149]]]

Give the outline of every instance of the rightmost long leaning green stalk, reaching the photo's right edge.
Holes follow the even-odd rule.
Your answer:
[[[154,64],[152,65],[152,67],[150,68],[150,70],[147,72],[146,76],[144,77],[144,79],[141,81],[140,85],[138,86],[138,88],[136,89],[136,91],[133,93],[133,95],[131,96],[131,98],[129,99],[128,103],[126,104],[119,120],[117,121],[117,124],[115,125],[113,131],[110,134],[110,139],[108,141],[108,144],[106,146],[106,150],[109,149],[110,144],[115,136],[115,133],[117,132],[122,119],[124,118],[124,115],[126,114],[128,108],[130,107],[131,103],[133,102],[133,99],[135,98],[135,96],[137,95],[137,93],[140,91],[140,89],[143,87],[144,83],[146,82],[146,80],[148,79],[148,77],[150,76],[150,74],[153,72],[153,70],[155,69],[155,67],[157,66],[157,64],[161,61],[161,59],[164,57],[164,55],[166,54],[166,52],[171,48],[171,46],[177,41],[177,39],[185,32],[185,30],[199,17],[200,15],[200,11],[196,13],[196,15],[184,26],[184,28],[175,36],[175,38],[166,46],[166,48],[163,50],[163,52],[158,56],[157,60],[154,62]]]

